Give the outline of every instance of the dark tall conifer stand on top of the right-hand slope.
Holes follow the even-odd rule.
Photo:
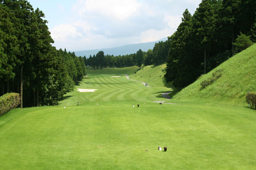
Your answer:
[[[256,41],[256,1],[202,0],[193,15],[184,11],[168,40],[165,79],[184,88],[241,51],[239,43]]]

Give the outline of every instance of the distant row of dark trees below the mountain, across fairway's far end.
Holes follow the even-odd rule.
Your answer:
[[[147,52],[139,49],[134,54],[127,55],[104,55],[104,51],[99,51],[93,57],[86,58],[84,56],[84,64],[87,69],[97,69],[97,68],[124,68],[137,65],[141,67],[142,65],[159,65],[166,62],[169,53],[170,43],[169,41],[160,41],[155,43],[153,50],[149,49]]]

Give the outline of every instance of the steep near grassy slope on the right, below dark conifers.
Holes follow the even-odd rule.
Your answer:
[[[220,71],[221,77],[201,88],[201,82]],[[247,91],[256,91],[256,44],[236,54],[176,94],[172,102],[246,106]]]

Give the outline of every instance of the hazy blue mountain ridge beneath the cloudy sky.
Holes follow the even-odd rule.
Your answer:
[[[120,47],[114,47],[114,48],[102,48],[102,49],[97,49],[97,50],[84,50],[84,51],[74,51],[76,56],[81,56],[81,57],[90,57],[93,56],[93,54],[97,54],[99,51],[104,51],[104,54],[107,55],[114,55],[114,56],[119,56],[119,55],[126,55],[126,54],[134,54],[136,53],[139,49],[142,51],[148,51],[148,49],[153,49],[154,45],[156,42],[159,41],[166,41],[166,38],[162,38],[161,40],[154,41],[154,42],[145,42],[145,43],[139,43],[139,44],[129,44],[129,45],[124,45]]]

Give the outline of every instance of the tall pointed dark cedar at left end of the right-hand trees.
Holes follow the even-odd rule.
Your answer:
[[[174,81],[176,87],[185,87],[195,78],[196,66],[191,50],[192,16],[186,9],[182,22],[175,34],[169,37],[171,42],[165,78],[167,82]]]

